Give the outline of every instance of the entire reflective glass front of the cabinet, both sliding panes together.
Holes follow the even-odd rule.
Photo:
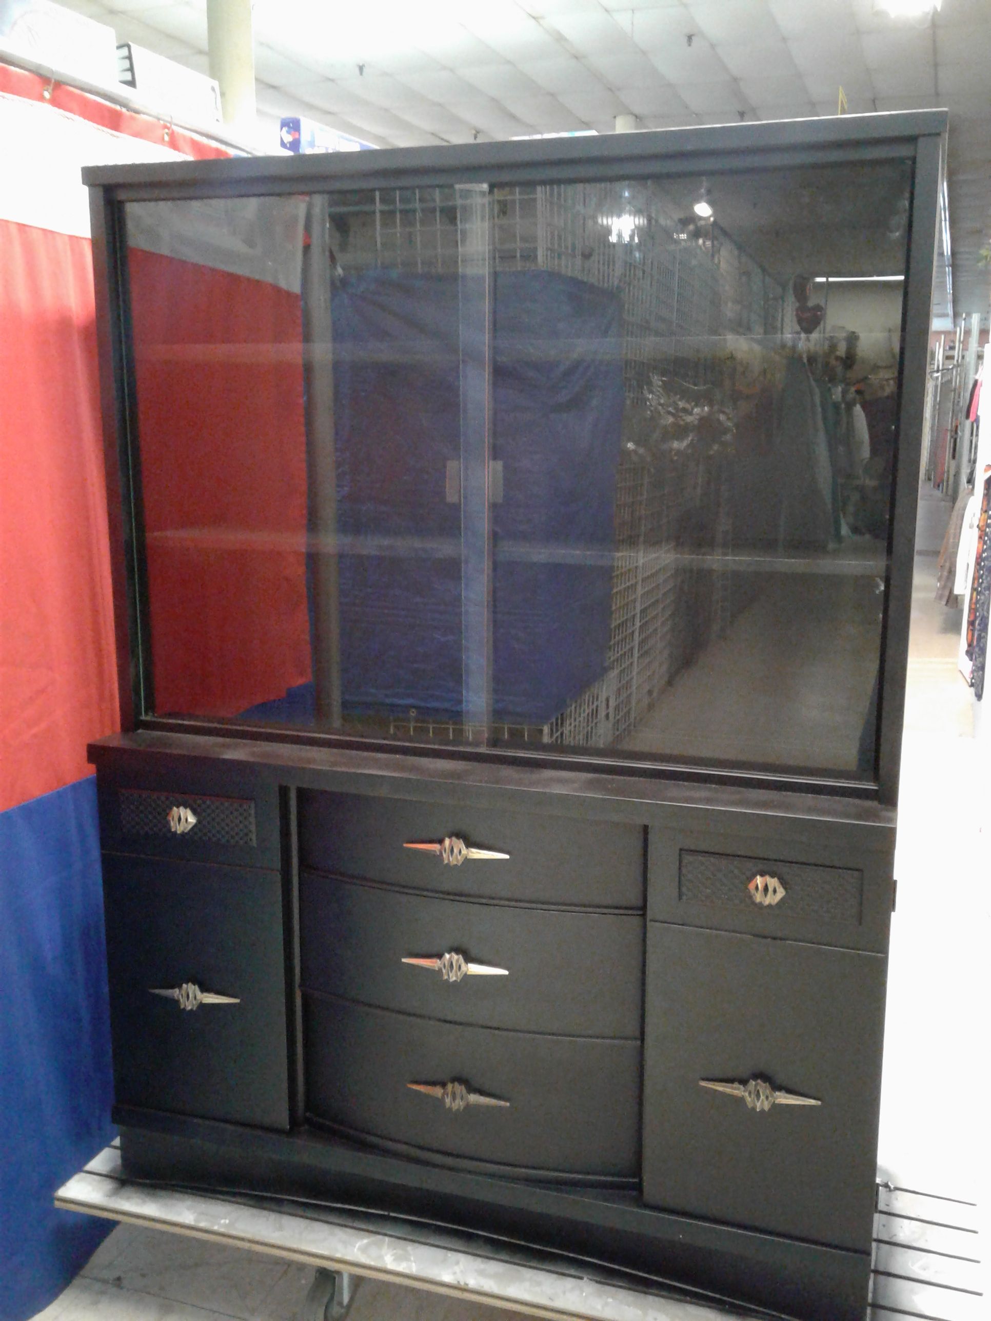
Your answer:
[[[909,190],[129,205],[145,708],[873,778]]]

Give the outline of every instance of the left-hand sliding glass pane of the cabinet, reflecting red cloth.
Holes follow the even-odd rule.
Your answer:
[[[485,189],[131,203],[127,230],[147,713],[451,738],[470,699],[484,738]]]

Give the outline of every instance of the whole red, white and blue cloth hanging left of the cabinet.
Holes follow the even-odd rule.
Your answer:
[[[0,1318],[108,1230],[53,1193],[111,1137],[96,795],[118,728],[86,164],[221,148],[0,65]]]

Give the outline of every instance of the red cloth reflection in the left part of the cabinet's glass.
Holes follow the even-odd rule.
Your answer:
[[[299,293],[129,255],[155,709],[311,678]]]

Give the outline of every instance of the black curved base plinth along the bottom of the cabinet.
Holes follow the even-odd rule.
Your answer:
[[[802,1321],[864,1321],[871,1258],[667,1215],[628,1193],[521,1184],[414,1164],[328,1133],[275,1136],[151,1111],[115,1111],[127,1174],[246,1193],[287,1193],[333,1207],[363,1206],[478,1226],[581,1263],[649,1275],[662,1289],[739,1313],[752,1308]],[[390,1226],[391,1227],[391,1226]],[[412,1232],[416,1232],[414,1227]],[[481,1238],[476,1250],[484,1250]]]

